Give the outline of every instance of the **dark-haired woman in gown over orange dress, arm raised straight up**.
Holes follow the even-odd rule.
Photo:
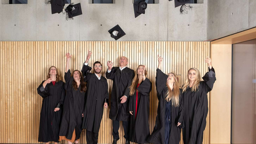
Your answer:
[[[84,115],[84,101],[86,84],[83,75],[79,70],[74,70],[73,76],[69,69],[70,58],[72,55],[66,54],[67,64],[65,72],[67,95],[63,105],[63,116],[60,127],[60,141],[67,140],[68,144],[78,144],[82,131],[82,117]]]

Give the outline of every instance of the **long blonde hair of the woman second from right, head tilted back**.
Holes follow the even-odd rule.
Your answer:
[[[166,101],[172,100],[172,106],[178,107],[179,100],[180,100],[180,98],[179,98],[180,97],[179,83],[178,83],[176,75],[174,73],[170,72],[169,74],[173,74],[175,80],[174,80],[174,84],[173,84],[173,89],[170,88],[170,86],[168,85],[168,83],[166,81],[166,86],[168,88],[168,90],[166,92]]]

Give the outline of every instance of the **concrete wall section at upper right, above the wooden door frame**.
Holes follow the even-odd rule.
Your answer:
[[[209,0],[208,39],[256,26],[256,0]]]

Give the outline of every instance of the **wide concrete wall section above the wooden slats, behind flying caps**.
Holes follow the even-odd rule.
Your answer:
[[[108,30],[116,24],[126,33],[122,41],[202,41],[207,40],[208,1],[192,4],[192,11],[181,15],[174,0],[160,0],[148,4],[146,14],[135,19],[132,0],[116,0],[115,4],[72,0],[81,3],[83,14],[68,21],[63,14],[51,14],[44,0],[0,3],[0,41],[114,40]]]

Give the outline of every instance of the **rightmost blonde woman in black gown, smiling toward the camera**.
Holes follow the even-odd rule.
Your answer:
[[[212,90],[216,81],[215,71],[209,57],[204,60],[208,63],[208,70],[201,81],[200,72],[196,68],[189,69],[185,84],[182,86],[184,101],[184,126],[182,130],[184,144],[202,144],[206,117],[208,113],[207,93]]]

